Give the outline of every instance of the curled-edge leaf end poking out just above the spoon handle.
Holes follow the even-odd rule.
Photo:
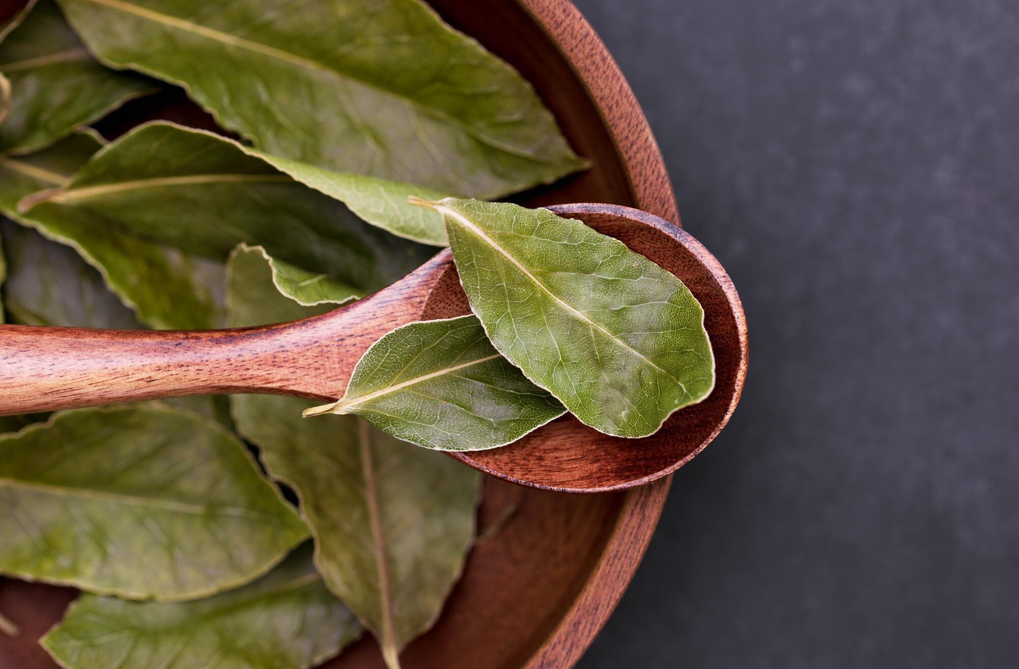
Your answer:
[[[229,327],[285,323],[317,316],[358,296],[357,289],[238,245],[226,264]],[[275,290],[273,290],[275,288]]]

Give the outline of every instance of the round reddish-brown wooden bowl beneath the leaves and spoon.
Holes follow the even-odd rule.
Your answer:
[[[679,222],[665,166],[644,115],[604,45],[567,0],[431,0],[452,25],[478,39],[532,81],[577,152],[594,167],[518,198],[531,206],[611,203]],[[172,107],[172,105],[171,105]],[[186,105],[155,116],[192,122]],[[138,119],[138,107],[124,110]],[[126,116],[122,118],[126,119]],[[115,132],[117,119],[104,130]],[[625,236],[625,233],[618,235]],[[702,297],[703,299],[703,297]],[[708,324],[715,350],[741,365],[719,378],[710,411],[721,423],[745,374],[745,324]],[[705,403],[707,406],[707,403]],[[698,409],[704,411],[704,407]],[[686,462],[712,435],[691,440]],[[675,467],[674,467],[675,468]],[[654,471],[654,463],[649,464]],[[573,666],[630,581],[658,521],[672,477],[627,492],[569,495],[489,478],[482,534],[508,520],[471,553],[462,580],[425,635],[401,656],[406,669],[551,669]],[[0,612],[22,628],[0,634],[0,667],[54,668],[36,639],[56,623],[74,591],[5,579]],[[329,669],[383,669],[363,638]]]

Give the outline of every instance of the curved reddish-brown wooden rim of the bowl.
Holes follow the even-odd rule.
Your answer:
[[[601,38],[570,0],[516,0],[549,37],[587,89],[626,168],[634,202],[680,224],[673,184],[644,112]],[[682,226],[681,226],[682,227]],[[569,669],[619,604],[647,549],[673,475],[626,493],[623,507],[583,589],[525,669]]]

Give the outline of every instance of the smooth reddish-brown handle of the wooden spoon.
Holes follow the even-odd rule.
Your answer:
[[[292,323],[196,331],[0,326],[0,415],[206,393],[335,399],[375,340],[418,320],[449,265],[441,256],[364,299]]]

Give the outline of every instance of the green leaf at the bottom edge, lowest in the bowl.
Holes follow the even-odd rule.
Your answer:
[[[305,545],[259,580],[197,602],[86,595],[41,640],[67,669],[309,669],[362,631]]]

